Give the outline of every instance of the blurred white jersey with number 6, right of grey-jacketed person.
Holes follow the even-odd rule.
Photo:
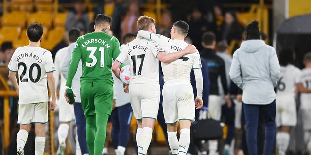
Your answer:
[[[281,66],[280,79],[276,86],[276,96],[294,95],[296,84],[301,83],[300,73],[300,69],[292,64]]]

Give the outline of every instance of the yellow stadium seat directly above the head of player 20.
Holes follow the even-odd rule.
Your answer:
[[[52,12],[35,12],[31,13],[27,18],[27,24],[31,23],[41,23],[47,28],[52,27]]]

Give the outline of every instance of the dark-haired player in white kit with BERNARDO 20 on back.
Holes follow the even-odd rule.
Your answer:
[[[19,96],[17,123],[20,124],[20,129],[16,137],[17,155],[24,155],[24,146],[32,123],[35,123],[35,155],[43,155],[48,109],[54,110],[56,102],[53,76],[55,67],[51,52],[40,47],[43,36],[41,24],[30,24],[26,34],[29,45],[17,48],[8,65],[9,79]],[[16,72],[19,84],[15,77]],[[48,86],[52,97],[50,106]]]

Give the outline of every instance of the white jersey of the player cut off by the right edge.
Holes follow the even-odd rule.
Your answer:
[[[301,71],[301,81],[305,88],[311,89],[311,68]],[[300,101],[300,109],[311,109],[311,93],[301,93]]]

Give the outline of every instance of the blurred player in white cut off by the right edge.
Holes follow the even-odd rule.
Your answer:
[[[307,52],[303,58],[305,68],[301,70],[301,82],[304,88],[311,89],[311,52]],[[301,93],[300,112],[304,129],[304,140],[307,151],[311,154],[311,93]]]

